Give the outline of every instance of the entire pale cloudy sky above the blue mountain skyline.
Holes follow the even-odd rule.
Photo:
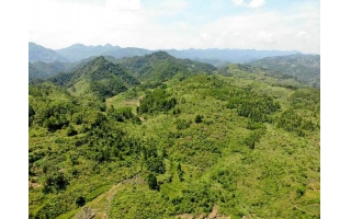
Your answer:
[[[319,0],[31,0],[29,39],[320,53]]]

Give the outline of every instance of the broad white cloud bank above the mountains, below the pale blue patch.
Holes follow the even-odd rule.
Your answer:
[[[171,10],[171,3],[146,9],[139,0],[106,0],[99,7],[67,0],[33,2],[30,41],[54,49],[76,43],[149,49],[217,47],[319,53],[320,48],[316,8],[305,7],[291,14],[256,11],[195,25],[188,21],[156,22],[163,18],[166,9]],[[177,10],[185,5],[182,1]]]

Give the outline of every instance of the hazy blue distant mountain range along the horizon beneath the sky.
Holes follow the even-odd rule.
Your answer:
[[[67,48],[57,50],[48,49],[43,46],[30,43],[30,61],[80,61],[81,59],[91,56],[112,56],[116,59],[123,57],[144,56],[152,54],[158,50],[163,50],[176,58],[189,58],[208,64],[216,64],[222,67],[225,62],[244,64],[248,61],[258,60],[271,56],[287,56],[292,54],[301,54],[297,50],[281,51],[281,50],[254,50],[254,49],[156,49],[149,50],[144,48],[112,46],[106,44],[104,46],[84,46],[82,44],[75,44]]]

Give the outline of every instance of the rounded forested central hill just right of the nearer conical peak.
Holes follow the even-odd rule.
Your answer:
[[[178,59],[166,51],[156,51],[150,55],[122,58],[116,60],[133,76],[146,81],[162,82],[171,79],[174,74],[213,73],[216,68],[210,64]]]

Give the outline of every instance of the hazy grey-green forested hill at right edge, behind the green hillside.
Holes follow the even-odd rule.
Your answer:
[[[279,73],[296,77],[296,79],[320,88],[320,56],[295,54],[291,56],[267,57],[248,62]]]

